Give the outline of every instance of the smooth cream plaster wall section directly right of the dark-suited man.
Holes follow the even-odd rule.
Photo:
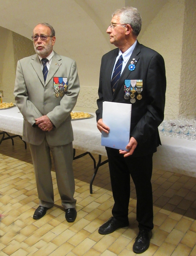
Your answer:
[[[140,39],[140,43],[158,51],[165,60],[167,115],[177,116],[180,109],[184,15],[185,1],[170,0],[152,20]]]

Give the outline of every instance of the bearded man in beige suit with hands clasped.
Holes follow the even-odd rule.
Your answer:
[[[15,100],[24,117],[23,140],[29,143],[40,206],[40,219],[54,205],[53,155],[58,191],[67,222],[76,219],[73,130],[70,113],[80,91],[76,62],[53,51],[55,31],[47,23],[33,29],[36,54],[18,61]]]

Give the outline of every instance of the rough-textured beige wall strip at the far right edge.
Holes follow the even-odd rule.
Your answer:
[[[185,3],[183,47],[181,58],[180,114],[196,116],[196,1]]]

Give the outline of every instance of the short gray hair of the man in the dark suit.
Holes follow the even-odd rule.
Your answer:
[[[120,23],[129,24],[132,27],[133,33],[138,36],[142,28],[142,17],[138,10],[134,7],[123,7],[116,10],[113,16],[120,17]]]

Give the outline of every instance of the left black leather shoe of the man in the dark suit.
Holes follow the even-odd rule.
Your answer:
[[[120,227],[129,226],[129,221],[121,222],[114,217],[111,217],[107,222],[105,222],[98,230],[98,232],[102,235],[107,235],[114,232],[116,229]]]

